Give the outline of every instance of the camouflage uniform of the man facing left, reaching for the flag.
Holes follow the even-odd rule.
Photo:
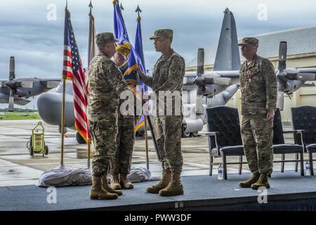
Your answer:
[[[159,153],[162,156],[162,167],[181,172],[183,156],[181,153],[181,130],[182,130],[182,88],[185,74],[185,61],[173,49],[166,55],[161,56],[156,65],[152,77],[142,79],[145,84],[152,88],[157,96],[159,105],[159,91],[178,91],[180,93],[180,115],[174,115],[174,98],[172,105],[173,115],[159,115],[157,107],[154,116],[154,135],[157,139]],[[164,103],[166,109],[166,103]]]

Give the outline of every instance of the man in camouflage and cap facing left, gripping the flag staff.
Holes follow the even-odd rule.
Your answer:
[[[180,182],[182,172],[183,156],[181,153],[181,129],[183,120],[182,109],[182,88],[185,74],[185,61],[171,49],[173,31],[169,29],[156,30],[154,36],[156,51],[162,53],[154,66],[152,77],[143,75],[139,70],[140,79],[152,88],[156,95],[157,104],[154,116],[154,134],[157,145],[162,156],[162,180],[154,186],[147,187],[148,193],[159,193],[159,195],[181,195],[183,186]],[[166,114],[166,108],[170,102],[161,99],[159,94],[162,91],[171,91],[172,94],[172,115]],[[160,101],[160,102],[159,102]],[[180,103],[178,108],[176,103]],[[164,108],[164,113],[160,113],[160,106]],[[178,113],[176,111],[178,110]]]

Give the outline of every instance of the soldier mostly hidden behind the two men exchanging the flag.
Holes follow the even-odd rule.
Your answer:
[[[121,71],[121,79],[127,70],[127,61],[119,51],[114,54],[114,62],[119,66]],[[119,107],[124,100],[120,100]],[[117,150],[112,158],[111,165],[111,188],[119,190],[121,188],[131,189],[133,184],[127,179],[127,175],[131,172],[131,159],[133,154],[133,146],[135,143],[135,116],[121,115],[118,112],[118,134],[117,134]]]

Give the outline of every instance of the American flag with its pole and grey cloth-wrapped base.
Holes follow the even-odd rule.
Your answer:
[[[86,108],[88,105],[88,82],[81,63],[77,41],[70,20],[70,12],[65,8],[64,60],[62,67],[62,121],[61,121],[61,157],[60,167],[44,172],[39,178],[38,186],[68,186],[91,184],[90,142]],[[65,86],[66,79],[72,80],[74,91],[74,126],[88,143],[88,168],[67,168],[64,165],[65,136]]]

